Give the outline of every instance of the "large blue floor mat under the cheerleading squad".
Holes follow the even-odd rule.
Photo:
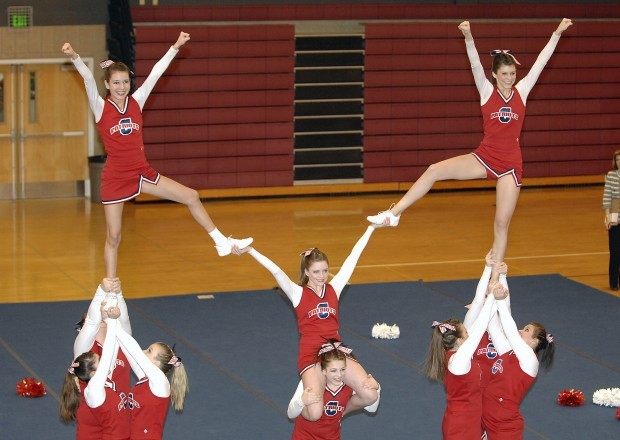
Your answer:
[[[465,314],[477,280],[365,284],[341,297],[343,340],[382,386],[376,415],[347,417],[343,439],[440,439],[443,387],[421,373],[430,322]],[[618,436],[615,408],[592,403],[599,388],[620,386],[617,322],[620,300],[559,275],[511,277],[512,311],[522,326],[538,320],[555,336],[556,363],[541,373],[521,407],[525,439],[607,439]],[[181,414],[169,412],[169,439],[287,439],[286,406],[296,375],[297,330],[277,290],[128,300],[142,346],[176,343],[190,377]],[[58,420],[58,394],[87,302],[1,304],[2,438],[67,439],[75,428]],[[370,337],[375,323],[396,323],[400,339]],[[18,397],[15,384],[37,375],[48,386],[38,399]],[[560,390],[581,389],[583,407],[555,403]]]

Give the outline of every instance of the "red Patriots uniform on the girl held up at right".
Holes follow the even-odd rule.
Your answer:
[[[516,87],[505,98],[495,87],[491,97],[481,107],[484,137],[472,153],[486,168],[489,179],[512,175],[521,186],[523,159],[519,137],[525,119],[525,104]]]

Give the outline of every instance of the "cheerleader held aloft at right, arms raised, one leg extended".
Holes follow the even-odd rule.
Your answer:
[[[508,226],[517,206],[522,183],[523,165],[519,138],[525,120],[527,97],[551,58],[560,36],[572,24],[568,18],[560,22],[528,74],[519,82],[516,81],[516,66],[519,63],[512,52],[492,51],[491,55],[494,57],[491,75],[494,84],[485,76],[469,22],[459,24],[459,30],[465,37],[467,55],[480,94],[484,130],[482,142],[471,154],[453,157],[429,166],[398,203],[388,211],[369,216],[368,221],[373,224],[398,225],[400,215],[424,197],[437,181],[495,179],[497,203],[493,253],[497,261],[502,262],[508,243]],[[497,280],[498,274],[494,273],[493,282]]]

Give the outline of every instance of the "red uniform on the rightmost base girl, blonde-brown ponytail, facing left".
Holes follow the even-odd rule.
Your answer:
[[[513,351],[499,356],[482,394],[482,423],[489,440],[521,440],[524,421],[519,406],[535,377],[525,373]]]

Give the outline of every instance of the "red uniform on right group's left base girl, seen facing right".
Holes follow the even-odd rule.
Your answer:
[[[446,365],[456,352],[446,353]],[[467,374],[452,374],[447,368],[443,383],[446,389],[446,412],[441,425],[444,440],[480,440],[482,436],[482,391],[480,367],[472,361]]]

